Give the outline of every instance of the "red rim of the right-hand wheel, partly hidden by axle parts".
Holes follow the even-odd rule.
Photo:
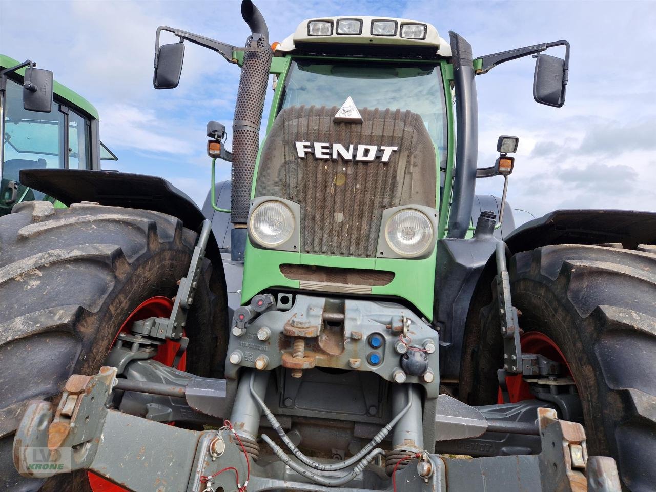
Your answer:
[[[552,359],[554,362],[564,364],[563,375],[572,377],[571,370],[567,359],[558,347],[558,344],[551,338],[540,333],[539,331],[527,331],[520,336],[520,346],[522,352],[528,354],[540,354],[546,358]],[[522,375],[506,376],[506,387],[508,388],[508,400],[510,403],[517,403],[522,400],[533,400],[535,396],[531,393],[529,384],[523,380]],[[497,396],[497,403],[504,403],[503,396],[501,395],[501,388]]]

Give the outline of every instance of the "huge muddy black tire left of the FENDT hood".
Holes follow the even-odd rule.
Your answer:
[[[12,461],[14,431],[31,399],[55,400],[73,373],[98,372],[123,321],[144,300],[173,297],[197,234],[162,213],[47,201],[0,220],[0,490],[86,491],[86,472],[43,482]],[[220,267],[203,264],[186,336],[187,371],[222,373],[226,293]],[[218,370],[218,373],[216,372]]]

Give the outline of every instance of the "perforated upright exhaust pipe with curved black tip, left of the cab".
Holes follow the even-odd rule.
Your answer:
[[[257,43],[265,51],[244,53],[237,90],[237,104],[232,121],[232,199],[230,222],[246,224],[251,202],[255,159],[260,148],[260,124],[268,86],[273,52],[269,31],[260,11],[251,0],[241,2],[241,16],[251,28],[246,46]]]

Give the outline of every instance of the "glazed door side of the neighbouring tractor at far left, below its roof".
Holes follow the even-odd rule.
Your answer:
[[[0,182],[0,216],[16,203],[54,199],[22,186],[21,169],[91,169],[91,122],[66,104],[54,101],[49,113],[23,108],[23,87],[7,81],[2,102],[5,132]]]

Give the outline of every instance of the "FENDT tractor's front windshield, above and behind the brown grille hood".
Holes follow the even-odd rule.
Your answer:
[[[290,106],[342,106],[351,96],[358,108],[418,113],[446,167],[447,113],[438,65],[298,59],[285,80],[280,109]]]

